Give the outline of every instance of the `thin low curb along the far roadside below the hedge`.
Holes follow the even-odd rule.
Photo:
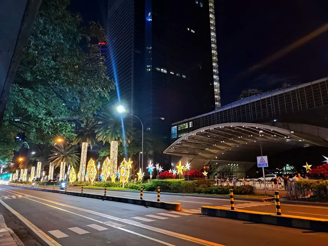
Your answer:
[[[67,186],[69,188],[73,189],[78,189],[81,187],[80,186]],[[84,187],[85,190],[90,189],[90,190],[100,190],[103,191],[104,189],[98,189],[98,188],[86,188]],[[127,191],[127,190],[115,190],[115,189],[110,189],[107,188],[107,192],[109,191],[115,191],[115,192],[134,192],[134,193],[140,193],[140,191]],[[157,192],[154,191],[143,191],[143,193],[154,193],[157,194]],[[161,192],[162,195],[178,195],[178,196],[195,196],[195,197],[206,197],[206,198],[220,198],[220,199],[227,199],[229,200],[229,196],[219,196],[219,195],[201,195],[201,194],[188,194],[188,193],[171,193],[171,192]],[[273,201],[275,198],[243,198],[243,197],[236,197],[236,200],[244,200],[244,201],[253,201],[253,202],[270,202]]]

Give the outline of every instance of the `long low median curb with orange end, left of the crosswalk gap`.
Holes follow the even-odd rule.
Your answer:
[[[10,185],[10,186],[12,186],[12,185]],[[141,206],[168,209],[168,210],[175,210],[175,211],[180,211],[181,210],[181,203],[178,203],[178,202],[157,202],[157,201],[151,201],[151,200],[140,200],[140,199],[134,199],[134,198],[125,198],[125,197],[120,197],[120,196],[94,195],[94,194],[89,194],[89,193],[79,193],[79,192],[50,190],[50,189],[38,189],[38,188],[21,187],[21,186],[12,186],[12,187],[18,187],[18,188],[29,189],[29,190],[37,190],[37,191],[60,193],[60,194],[66,194],[66,195],[82,196],[82,197],[95,198],[95,199],[101,199],[101,200],[106,200],[106,201],[124,202],[124,203],[130,203],[130,204],[134,204],[134,205],[141,205]]]

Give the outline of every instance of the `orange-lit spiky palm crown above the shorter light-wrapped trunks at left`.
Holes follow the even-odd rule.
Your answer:
[[[66,166],[69,164],[72,167],[77,167],[79,163],[78,154],[75,154],[75,149],[72,144],[61,143],[54,146],[51,150],[52,154],[49,157],[49,161],[54,163],[54,167],[60,166],[61,162],[66,162]]]

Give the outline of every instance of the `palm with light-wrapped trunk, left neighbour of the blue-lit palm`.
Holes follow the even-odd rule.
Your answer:
[[[77,136],[73,141],[73,144],[81,144],[81,159],[80,159],[80,170],[79,170],[79,179],[78,181],[84,180],[84,173],[85,173],[85,165],[87,162],[87,151],[88,151],[88,144],[90,143],[90,148],[92,149],[92,145],[96,143],[96,133],[95,126],[97,123],[87,123],[85,127],[81,128],[77,132]]]

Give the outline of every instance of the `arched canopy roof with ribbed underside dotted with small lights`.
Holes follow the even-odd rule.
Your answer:
[[[293,131],[254,123],[225,123],[197,129],[177,139],[164,154],[206,159],[254,161],[261,155],[316,146]]]

